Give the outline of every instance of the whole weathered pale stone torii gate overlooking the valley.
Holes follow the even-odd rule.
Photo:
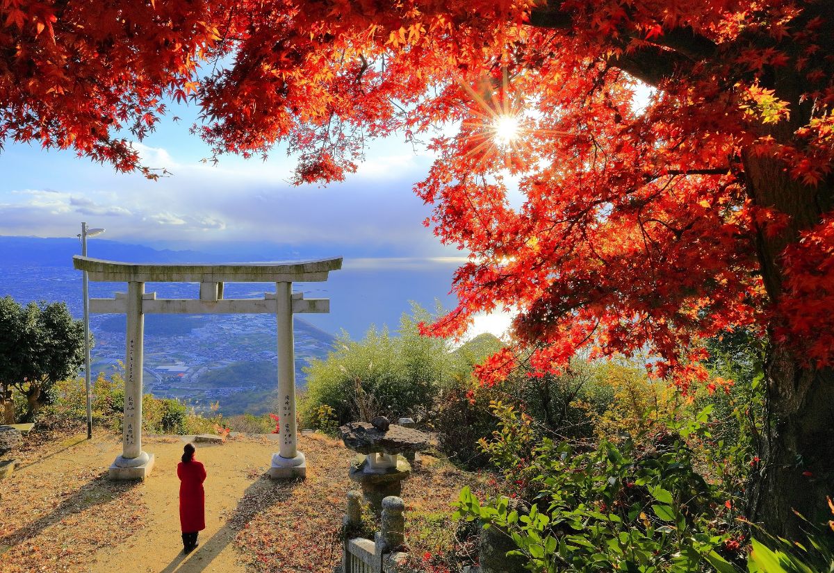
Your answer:
[[[274,314],[278,322],[278,391],[281,401],[280,451],[272,456],[269,476],[306,477],[307,462],[298,451],[295,423],[295,362],[293,315],[329,312],[326,298],[304,299],[293,293],[294,282],[323,282],[342,267],[341,257],[310,262],[243,264],[144,264],[73,257],[73,266],[88,272],[90,281],[127,282],[128,291],[115,298],[90,301],[90,311],[128,315],[124,376],[122,455],[110,466],[112,480],[143,479],[153,468],[153,454],[142,450],[142,371],[146,314]],[[146,282],[198,282],[198,299],[159,299],[145,292]],[[264,298],[227,299],[224,282],[274,282],[275,292]]]

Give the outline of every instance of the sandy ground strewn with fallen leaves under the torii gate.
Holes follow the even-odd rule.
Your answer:
[[[299,437],[316,465],[300,483],[264,476],[278,447],[269,436],[198,444],[208,472],[206,529],[185,556],[177,478],[185,440],[146,438],[143,449],[156,456],[151,475],[112,482],[107,468],[121,452],[118,436],[85,437],[43,440],[18,454],[0,498],[0,573],[243,573],[278,571],[276,562],[280,571],[332,571],[338,556],[330,530],[341,521],[350,457],[338,441]]]

